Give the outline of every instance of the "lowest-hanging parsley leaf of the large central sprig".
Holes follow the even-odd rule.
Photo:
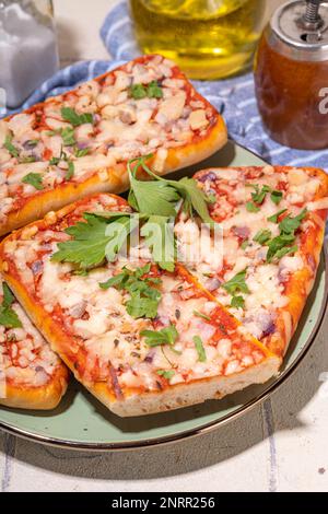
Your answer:
[[[141,227],[140,234],[150,248],[154,261],[164,270],[173,272],[176,260],[174,226],[169,218],[152,215]]]

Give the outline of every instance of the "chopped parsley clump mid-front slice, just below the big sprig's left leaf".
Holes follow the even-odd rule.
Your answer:
[[[125,290],[130,293],[130,300],[126,303],[126,307],[128,314],[133,318],[154,318],[157,315],[161,293],[153,285],[161,283],[161,280],[155,277],[144,278],[150,270],[150,264],[133,271],[124,268],[121,273],[114,276],[107,282],[99,285],[104,290],[116,288],[119,291]]]

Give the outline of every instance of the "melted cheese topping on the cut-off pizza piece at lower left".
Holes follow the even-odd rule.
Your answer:
[[[2,282],[0,282],[0,302],[2,302]],[[20,304],[14,302],[12,308],[17,314],[22,327],[9,329],[0,325],[0,374],[4,382],[42,387],[54,376],[60,360],[32,325]]]

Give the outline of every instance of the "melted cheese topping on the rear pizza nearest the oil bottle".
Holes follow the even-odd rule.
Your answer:
[[[0,223],[20,208],[19,200],[38,192],[33,183],[24,182],[30,174],[39,176],[43,190],[96,173],[106,180],[107,171],[117,163],[150,153],[156,154],[154,166],[161,172],[168,149],[204,136],[218,115],[199,96],[195,106],[196,91],[175,79],[177,73],[169,60],[147,57],[50,98],[33,113],[0,121]],[[153,81],[160,84],[162,98],[131,96],[131,86]],[[92,115],[93,122],[75,127],[62,118],[62,107]],[[65,133],[70,135],[68,141]]]

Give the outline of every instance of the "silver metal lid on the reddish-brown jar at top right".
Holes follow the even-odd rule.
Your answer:
[[[328,60],[328,1],[284,3],[273,13],[267,38],[276,51],[293,60]]]

